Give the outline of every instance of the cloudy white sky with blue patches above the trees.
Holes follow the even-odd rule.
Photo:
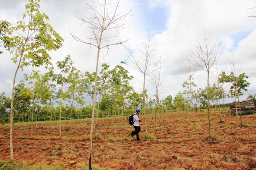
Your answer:
[[[21,20],[28,0],[1,0],[0,20],[16,24]],[[95,71],[95,50],[86,44],[75,41],[71,34],[79,38],[91,38],[88,25],[78,19],[90,15],[85,3],[91,0],[41,0],[41,13],[49,16],[49,23],[62,38],[63,47],[56,52],[50,52],[52,63],[63,60],[70,55],[74,65],[81,72]],[[163,80],[160,95],[174,98],[178,91],[184,91],[183,82],[188,76],[188,61],[190,52],[197,45],[202,33],[211,35],[211,41],[221,42],[223,54],[210,74],[210,84],[216,82],[217,73],[233,71],[227,57],[235,63],[237,74],[243,72],[249,76],[248,91],[244,91],[241,99],[247,94],[256,94],[256,1],[255,0],[120,0],[120,11],[123,13],[132,9],[132,15],[123,22],[125,29],[120,30],[120,39],[130,38],[127,46],[135,51],[135,57],[140,57],[138,50],[143,50],[143,40],[148,37],[156,42],[156,58],[162,59]],[[1,49],[3,50],[3,48]],[[126,60],[126,51],[122,47],[113,47],[104,57],[101,54],[100,63],[104,61],[111,66]],[[4,51],[0,55],[0,92],[10,96],[15,65],[10,60],[10,54]],[[131,85],[138,93],[142,92],[140,83],[143,76],[136,66],[127,62],[125,68],[134,76]],[[216,71],[217,68],[217,71]],[[24,72],[29,72],[26,68]],[[194,82],[198,88],[207,86],[207,74],[200,68],[191,66],[194,72]],[[19,70],[16,84],[23,78]],[[154,87],[147,82],[149,96],[154,95]],[[162,98],[161,97],[161,98]],[[240,100],[241,100],[240,99]],[[87,104],[90,101],[87,101]]]

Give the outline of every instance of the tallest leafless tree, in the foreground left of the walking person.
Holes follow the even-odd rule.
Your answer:
[[[93,110],[91,117],[91,132],[90,132],[90,153],[89,153],[89,170],[91,170],[91,156],[92,156],[92,139],[93,139],[93,127],[94,127],[94,113],[96,110],[96,94],[97,94],[97,75],[98,65],[100,58],[100,51],[111,46],[122,45],[125,41],[115,41],[118,37],[118,29],[124,28],[123,20],[129,15],[131,10],[127,13],[122,14],[120,9],[120,0],[92,0],[92,4],[85,3],[87,9],[91,11],[91,16],[79,18],[84,24],[88,25],[92,29],[92,37],[83,40],[73,34],[72,37],[84,44],[88,44],[90,47],[93,46],[97,49],[96,56],[96,68],[95,68],[95,80],[94,80],[94,98],[93,98]],[[97,7],[94,7],[96,5]],[[111,32],[111,34],[109,34]]]

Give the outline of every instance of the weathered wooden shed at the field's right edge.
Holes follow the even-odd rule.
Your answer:
[[[240,114],[239,103],[240,103],[242,114],[255,113],[255,106],[254,106],[253,98],[249,98],[244,101],[237,102],[237,114]],[[235,102],[230,104],[230,113],[231,113],[231,115],[236,115],[236,103]]]

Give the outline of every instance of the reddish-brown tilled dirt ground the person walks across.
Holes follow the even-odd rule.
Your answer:
[[[207,113],[158,114],[140,123],[141,142],[132,138],[128,117],[98,120],[94,131],[92,167],[97,170],[252,170],[256,168],[256,114],[211,114],[211,140]],[[146,128],[145,128],[146,127]],[[27,165],[60,165],[66,170],[88,167],[90,120],[59,125],[14,125],[13,153]],[[147,131],[146,131],[147,130]],[[147,139],[144,137],[147,135]],[[0,160],[10,160],[10,126],[0,126]]]

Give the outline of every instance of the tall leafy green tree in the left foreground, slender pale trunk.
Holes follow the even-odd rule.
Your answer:
[[[29,0],[26,4],[26,12],[23,20],[19,20],[16,26],[7,28],[5,36],[0,37],[7,50],[13,55],[11,60],[16,64],[14,69],[12,97],[10,109],[10,160],[13,157],[13,95],[15,80],[19,69],[26,66],[40,67],[51,65],[50,50],[62,47],[63,39],[45,22],[49,17],[39,11],[39,0]]]

